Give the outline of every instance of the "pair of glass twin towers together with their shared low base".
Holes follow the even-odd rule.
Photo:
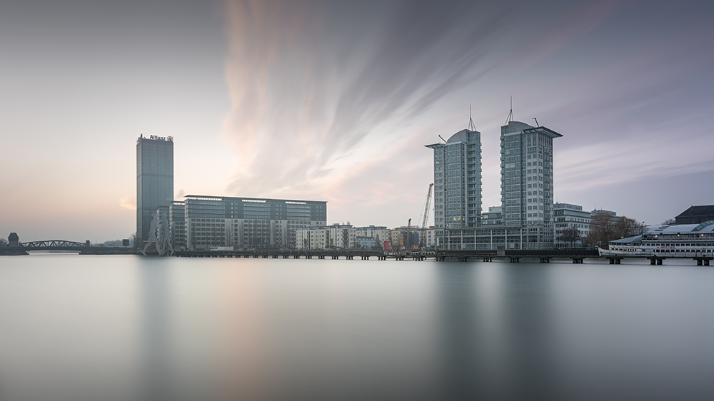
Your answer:
[[[553,248],[553,138],[543,126],[501,127],[501,224],[481,225],[481,133],[465,129],[434,151],[434,223],[440,249]]]

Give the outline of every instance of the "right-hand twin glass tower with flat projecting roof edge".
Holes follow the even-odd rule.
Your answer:
[[[522,248],[553,248],[553,138],[561,136],[518,121],[501,127],[503,225],[523,228]]]

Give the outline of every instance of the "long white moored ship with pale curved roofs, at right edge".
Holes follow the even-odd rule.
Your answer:
[[[714,220],[699,224],[649,225],[645,234],[610,241],[602,255],[714,257]],[[708,263],[708,262],[707,262]]]

